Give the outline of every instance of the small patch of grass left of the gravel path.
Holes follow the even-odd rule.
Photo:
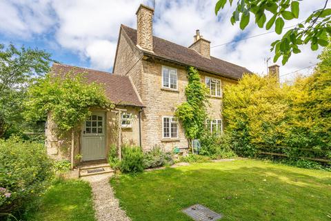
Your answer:
[[[94,221],[92,192],[88,182],[59,180],[42,196],[41,206],[28,221]]]

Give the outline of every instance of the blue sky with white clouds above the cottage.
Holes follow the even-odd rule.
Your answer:
[[[156,0],[154,35],[190,46],[195,30],[212,46],[237,41],[266,32],[250,23],[245,31],[230,24],[232,10],[225,7],[214,15],[216,0]],[[300,17],[285,26],[303,21],[325,1],[301,1]],[[121,23],[136,28],[135,12],[140,3],[152,6],[151,0],[0,0],[0,43],[46,50],[64,64],[112,71]],[[265,58],[272,57],[270,44],[279,38],[275,33],[254,37],[211,49],[214,57],[265,74]],[[281,67],[281,74],[317,63],[317,52],[309,46]],[[280,63],[280,62],[279,62]],[[301,73],[309,73],[309,69]],[[291,79],[286,75],[282,80]]]

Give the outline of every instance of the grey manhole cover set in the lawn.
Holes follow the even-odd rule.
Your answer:
[[[183,213],[197,221],[214,221],[223,217],[223,215],[215,213],[201,204],[195,204],[187,209],[183,209]]]

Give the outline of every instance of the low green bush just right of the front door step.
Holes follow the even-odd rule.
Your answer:
[[[112,169],[122,173],[137,173],[143,171],[143,151],[139,146],[122,146],[122,160],[117,156],[117,148],[112,145],[108,162]]]

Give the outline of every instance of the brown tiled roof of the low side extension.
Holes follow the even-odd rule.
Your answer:
[[[112,75],[99,70],[92,70],[88,68],[79,68],[75,66],[68,66],[65,64],[54,63],[52,66],[52,73],[54,75],[64,75],[72,71],[74,74],[86,73],[87,81],[104,84],[106,95],[114,104],[128,105],[128,106],[143,106],[139,99],[134,86],[129,77],[121,75]]]

